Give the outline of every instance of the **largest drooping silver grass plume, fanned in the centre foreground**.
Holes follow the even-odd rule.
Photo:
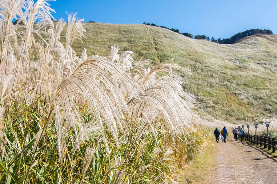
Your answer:
[[[104,84],[105,87],[101,84]],[[52,100],[55,112],[66,119],[65,127],[72,127],[77,134],[78,129],[82,128],[82,119],[74,99],[78,99],[82,95],[94,110],[100,127],[103,127],[104,122],[107,123],[117,140],[117,125],[123,127],[122,110],[128,111],[123,94],[121,90],[118,90],[118,84],[125,93],[128,91],[133,98],[139,98],[137,94],[137,91],[140,91],[139,87],[115,63],[103,58],[87,59],[70,77],[63,79],[59,84]],[[62,133],[62,119],[59,119],[58,122],[61,124],[58,136],[64,136],[67,130],[64,129],[65,131]],[[105,139],[104,129],[101,128],[101,131]],[[78,142],[78,136],[76,139]],[[58,138],[58,140],[62,139]],[[59,152],[62,153],[62,150]]]

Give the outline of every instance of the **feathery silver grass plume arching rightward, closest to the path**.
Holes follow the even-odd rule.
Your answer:
[[[186,126],[191,121],[194,97],[184,93],[182,89],[182,79],[175,75],[172,69],[188,69],[169,63],[162,63],[151,70],[144,70],[137,82],[142,86],[143,93],[140,99],[129,99],[128,106],[134,107],[140,104],[155,106],[167,120],[170,133],[184,134]],[[156,73],[163,74],[159,77]]]

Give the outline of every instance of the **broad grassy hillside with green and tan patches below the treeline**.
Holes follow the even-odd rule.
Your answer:
[[[77,55],[83,48],[88,55],[109,55],[110,46],[118,45],[153,65],[174,59],[190,68],[184,90],[197,96],[200,115],[250,123],[276,117],[277,35],[223,45],[147,25],[88,23],[85,28],[87,39],[73,45]]]

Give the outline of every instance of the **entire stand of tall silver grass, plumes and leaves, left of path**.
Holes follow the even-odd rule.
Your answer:
[[[78,57],[83,20],[53,23],[51,12],[44,0],[0,1],[0,183],[174,182],[172,160],[204,142],[174,73],[189,70],[151,69],[116,46]]]

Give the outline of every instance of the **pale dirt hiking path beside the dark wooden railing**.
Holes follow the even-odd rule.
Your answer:
[[[258,147],[230,140],[215,143],[216,169],[207,183],[277,183],[277,159]]]

